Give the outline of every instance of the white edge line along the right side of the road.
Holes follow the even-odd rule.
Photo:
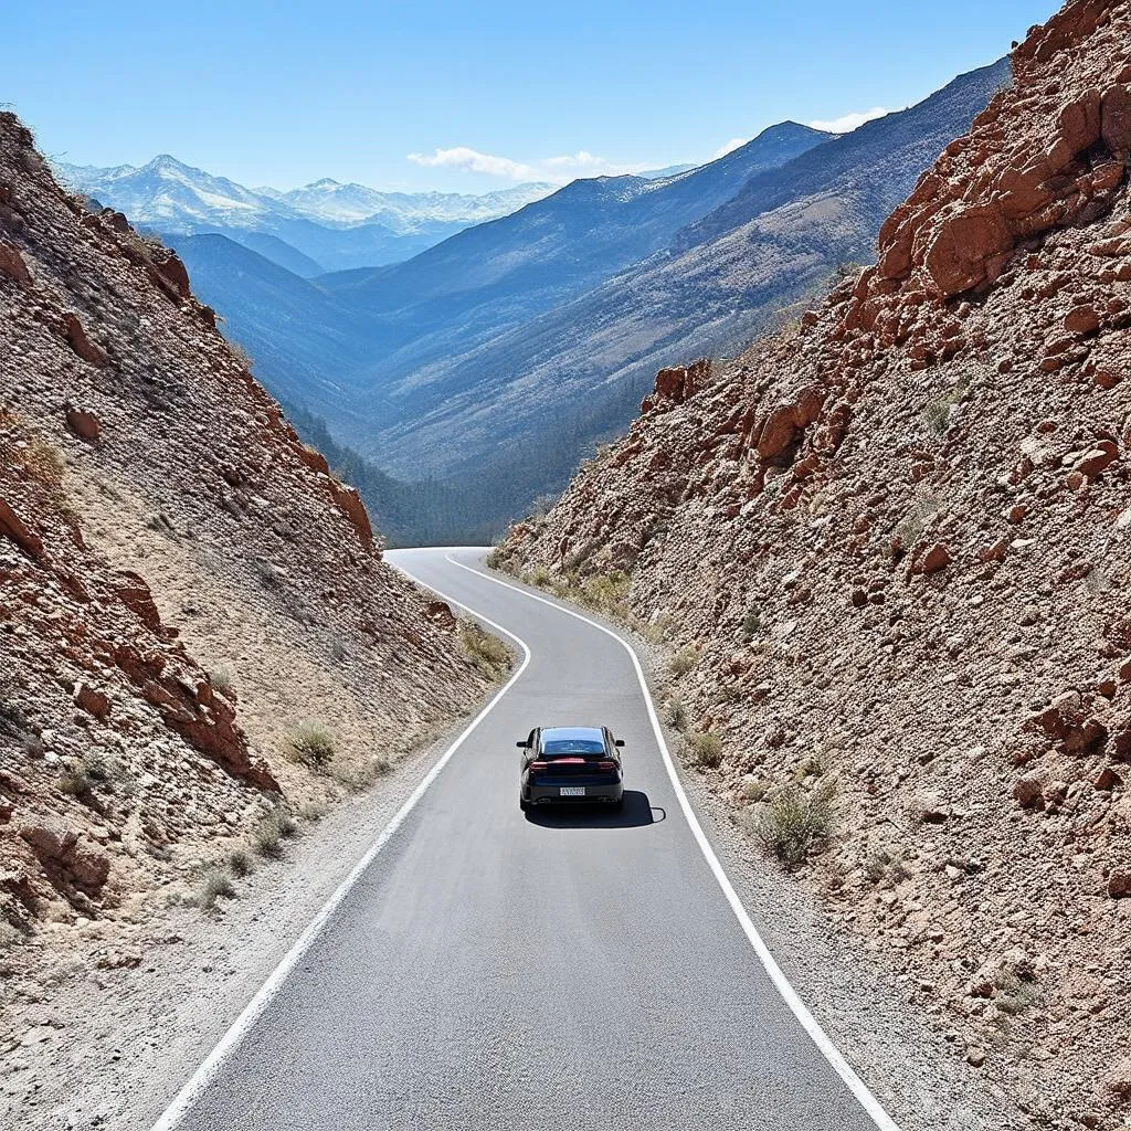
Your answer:
[[[491,577],[490,573],[484,573],[482,570],[473,569],[470,566],[465,566],[463,562],[457,562],[450,554],[446,554],[444,558],[452,566],[458,566],[460,569],[465,569],[468,573],[474,573],[476,577],[481,577],[485,581],[491,581],[494,585],[501,585],[504,589],[513,589],[515,593],[519,593],[524,597],[528,597],[530,601],[541,602],[543,605],[556,608],[558,612],[564,613],[567,616],[572,616],[576,620],[584,621],[586,624],[592,624],[595,629],[604,632],[605,636],[612,637],[629,654],[632,659],[632,667],[636,671],[637,680],[640,682],[640,690],[644,693],[644,700],[648,706],[648,717],[651,719],[651,728],[655,732],[656,742],[659,744],[659,752],[664,759],[664,766],[667,768],[667,776],[672,779],[672,785],[675,788],[675,795],[680,801],[680,808],[683,810],[683,815],[691,828],[691,832],[694,836],[696,841],[699,845],[699,849],[703,854],[711,873],[718,881],[718,886],[723,889],[723,895],[726,897],[726,901],[731,905],[731,909],[734,912],[740,926],[750,940],[750,946],[753,947],[754,953],[758,956],[758,960],[766,968],[766,973],[770,976],[770,981],[777,987],[777,991],[785,1000],[785,1003],[789,1007],[793,1016],[801,1022],[802,1028],[812,1038],[813,1044],[817,1045],[818,1050],[820,1050],[821,1054],[832,1067],[837,1076],[844,1080],[849,1091],[852,1091],[852,1094],[856,1097],[861,1107],[867,1112],[872,1122],[875,1123],[880,1131],[899,1131],[899,1126],[895,1120],[892,1120],[891,1116],[883,1110],[880,1102],[872,1095],[867,1085],[864,1083],[864,1081],[856,1074],[852,1065],[841,1055],[840,1050],[837,1048],[837,1046],[832,1043],[832,1039],[821,1028],[817,1018],[810,1013],[809,1008],[801,1000],[797,991],[794,990],[789,979],[783,973],[782,967],[778,966],[774,956],[770,953],[769,948],[762,940],[762,936],[758,933],[758,929],[754,926],[753,920],[751,920],[746,908],[742,906],[742,900],[739,898],[739,893],[734,890],[734,886],[727,878],[718,856],[715,855],[715,849],[707,839],[707,835],[703,832],[702,826],[699,823],[699,819],[696,817],[694,810],[691,808],[691,802],[688,800],[688,795],[683,789],[683,783],[680,782],[679,774],[675,771],[675,763],[672,761],[672,754],[667,749],[667,743],[664,741],[664,732],[661,728],[659,718],[656,716],[656,707],[651,701],[651,693],[649,692],[648,683],[644,677],[644,668],[640,666],[640,659],[632,645],[620,636],[620,633],[605,628],[604,624],[598,624],[597,621],[590,620],[582,613],[575,612],[572,608],[567,608],[564,605],[560,605],[555,601],[541,597],[536,593],[530,593],[529,589],[524,589],[520,586],[511,585],[509,581],[503,581],[501,578]],[[443,594],[440,594],[440,596],[442,597]],[[474,608],[470,608],[467,605],[464,605],[463,607],[478,616]],[[490,623],[490,621],[486,621],[485,618],[480,616],[478,619],[483,620],[484,623]],[[507,634],[511,636],[509,632]]]

